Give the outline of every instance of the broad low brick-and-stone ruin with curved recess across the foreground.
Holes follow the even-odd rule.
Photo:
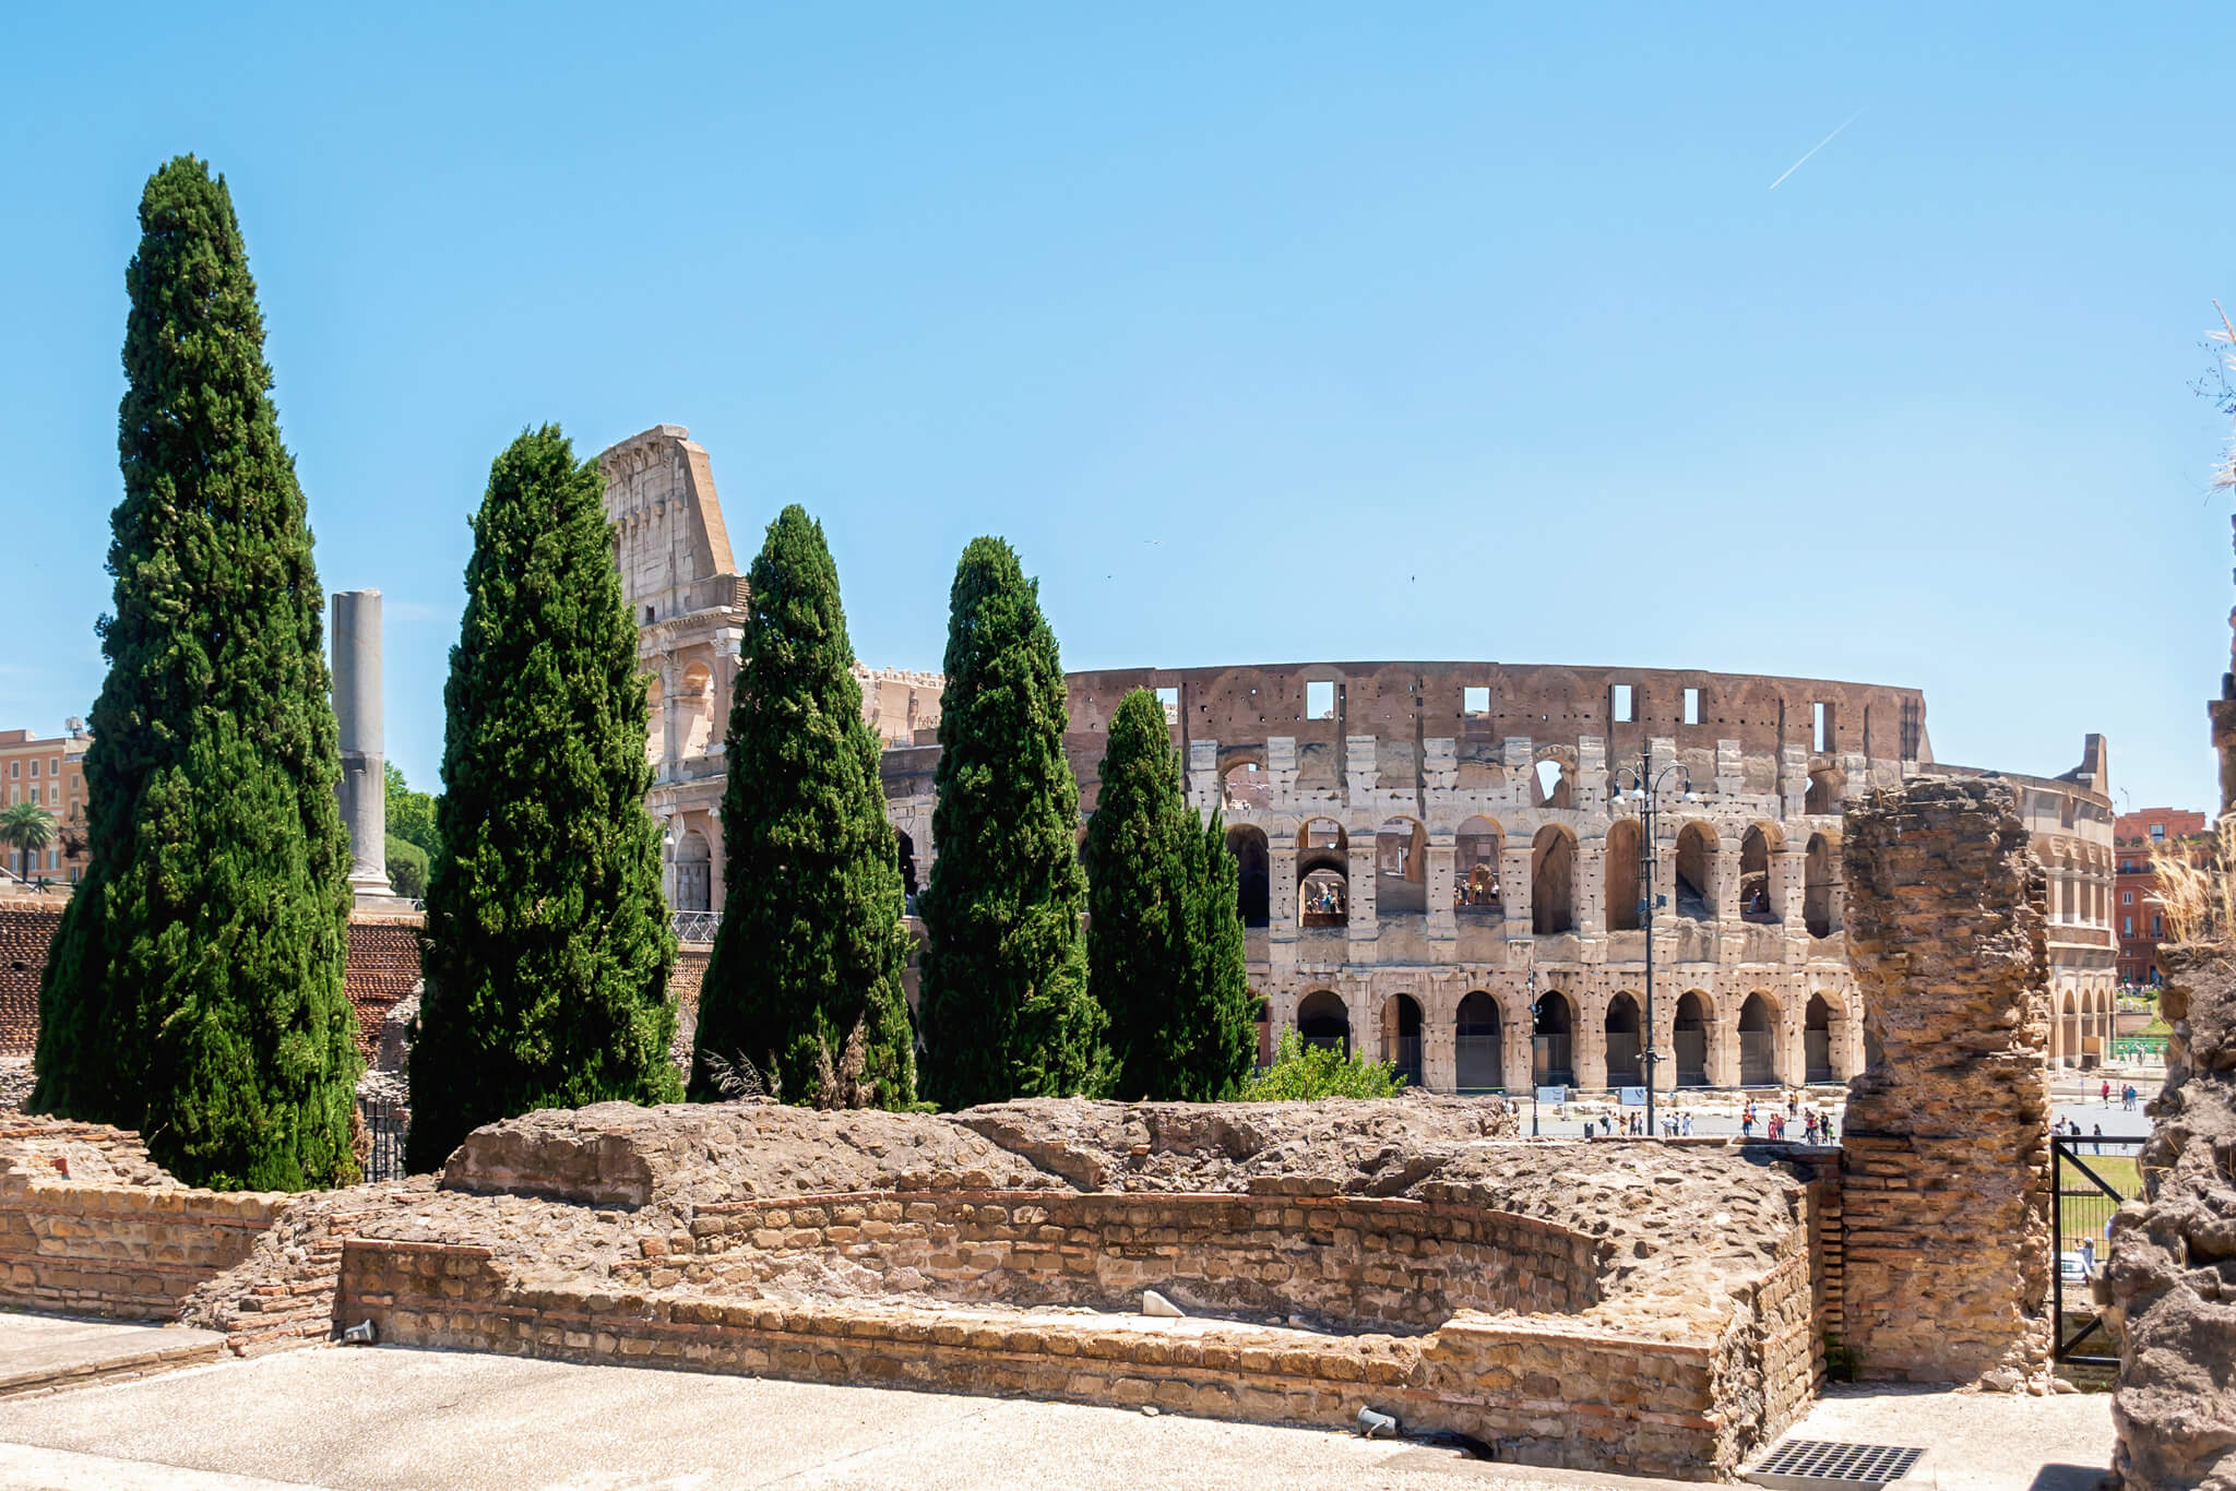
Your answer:
[[[210,1196],[0,1136],[0,1303],[1154,1404],[1728,1478],[1820,1375],[1811,1187],[1496,1100],[530,1113],[443,1176]],[[83,1140],[83,1133],[78,1136]],[[130,1145],[123,1147],[130,1151]],[[134,1238],[179,1259],[139,1276]],[[1143,1312],[1147,1292],[1178,1317]]]

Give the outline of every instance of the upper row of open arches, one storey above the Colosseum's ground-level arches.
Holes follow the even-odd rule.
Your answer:
[[[1239,823],[1228,829],[1228,847],[1241,865],[1243,925],[1272,921],[1272,845],[1266,829]],[[1453,836],[1451,910],[1460,917],[1503,917],[1500,827],[1489,818],[1469,818]],[[1749,825],[1740,836],[1737,914],[1762,925],[1784,925],[1793,908],[1773,874],[1773,854],[1782,849],[1775,825]],[[1668,908],[1681,919],[1713,921],[1719,914],[1722,890],[1715,858],[1722,852],[1717,832],[1699,820],[1677,832],[1666,885]],[[1608,825],[1603,852],[1605,930],[1635,932],[1646,903],[1646,858],[1637,818]],[[1802,858],[1800,919],[1811,937],[1840,930],[1840,849],[1829,834],[1811,834]],[[1351,834],[1335,818],[1308,818],[1297,829],[1297,925],[1339,928],[1351,921]],[[1375,914],[1406,917],[1429,910],[1429,834],[1415,818],[1389,818],[1375,832]],[[1576,834],[1563,825],[1545,825],[1529,843],[1529,928],[1538,937],[1576,930]]]

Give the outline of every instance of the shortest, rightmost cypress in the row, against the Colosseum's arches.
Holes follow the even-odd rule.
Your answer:
[[[1232,1098],[1257,1051],[1234,856],[1181,791],[1165,706],[1118,702],[1087,825],[1087,970],[1120,1098]]]

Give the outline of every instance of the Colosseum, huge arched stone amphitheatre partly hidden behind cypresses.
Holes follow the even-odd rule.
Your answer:
[[[604,469],[655,680],[648,807],[689,934],[722,905],[745,581],[689,431],[624,440]],[[856,673],[915,890],[937,856],[939,677]],[[1069,675],[1082,823],[1134,688],[1165,702],[1190,800],[1225,818],[1261,1048],[1295,1026],[1433,1091],[1643,1086],[1648,1048],[1659,1089],[1847,1080],[1865,1051],[1842,807],[1979,773],[1934,762],[1925,700],[1898,686],[1496,662],[1114,668]],[[2021,789],[2048,876],[2053,1057],[2088,1064],[2115,981],[2104,740],[2057,778],[1995,776]]]

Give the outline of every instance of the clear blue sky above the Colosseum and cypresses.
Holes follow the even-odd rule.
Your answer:
[[[0,16],[0,726],[101,686],[123,268],[197,152],[420,785],[465,516],[557,420],[689,425],[740,563],[805,503],[872,664],[999,532],[1076,668],[1916,684],[1943,760],[2104,731],[2211,805],[2236,7],[472,9]]]

